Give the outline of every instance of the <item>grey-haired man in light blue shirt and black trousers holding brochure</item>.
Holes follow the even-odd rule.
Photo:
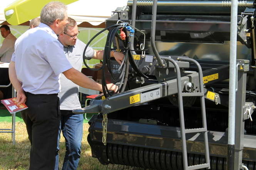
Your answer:
[[[58,41],[67,24],[67,7],[50,2],[40,15],[41,23],[23,33],[15,43],[9,77],[17,91],[18,105],[31,143],[30,170],[53,170],[60,125],[60,73],[79,86],[102,91],[102,86],[72,67]],[[117,90],[108,84],[110,90]]]

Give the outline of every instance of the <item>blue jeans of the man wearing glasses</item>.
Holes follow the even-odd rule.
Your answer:
[[[60,113],[61,118],[56,150],[55,170],[59,169],[58,151],[60,150],[60,130],[62,131],[66,144],[66,153],[62,170],[76,170],[80,160],[84,117],[82,114],[73,114],[72,111],[67,110],[60,110]]]

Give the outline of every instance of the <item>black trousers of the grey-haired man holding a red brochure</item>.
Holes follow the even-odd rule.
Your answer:
[[[31,143],[30,170],[54,170],[60,125],[57,94],[26,92],[28,109],[21,116]]]

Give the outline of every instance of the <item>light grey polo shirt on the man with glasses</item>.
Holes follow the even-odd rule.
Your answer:
[[[71,65],[79,71],[82,69],[83,52],[85,46],[85,43],[78,39],[74,46],[64,46],[64,52],[67,59]],[[87,59],[92,58],[94,56],[94,52],[95,51],[92,48],[87,47],[85,51],[85,56],[87,56]],[[60,84],[61,90],[58,94],[60,97],[60,110],[80,109],[81,105],[78,98],[79,86],[67,79],[64,74],[60,74]]]

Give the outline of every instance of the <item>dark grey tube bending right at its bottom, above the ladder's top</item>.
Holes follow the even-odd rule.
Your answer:
[[[163,61],[161,60],[158,51],[156,50],[155,36],[156,36],[156,10],[157,10],[157,0],[154,0],[152,8],[152,22],[151,22],[151,47],[156,56],[158,64],[162,67]]]

